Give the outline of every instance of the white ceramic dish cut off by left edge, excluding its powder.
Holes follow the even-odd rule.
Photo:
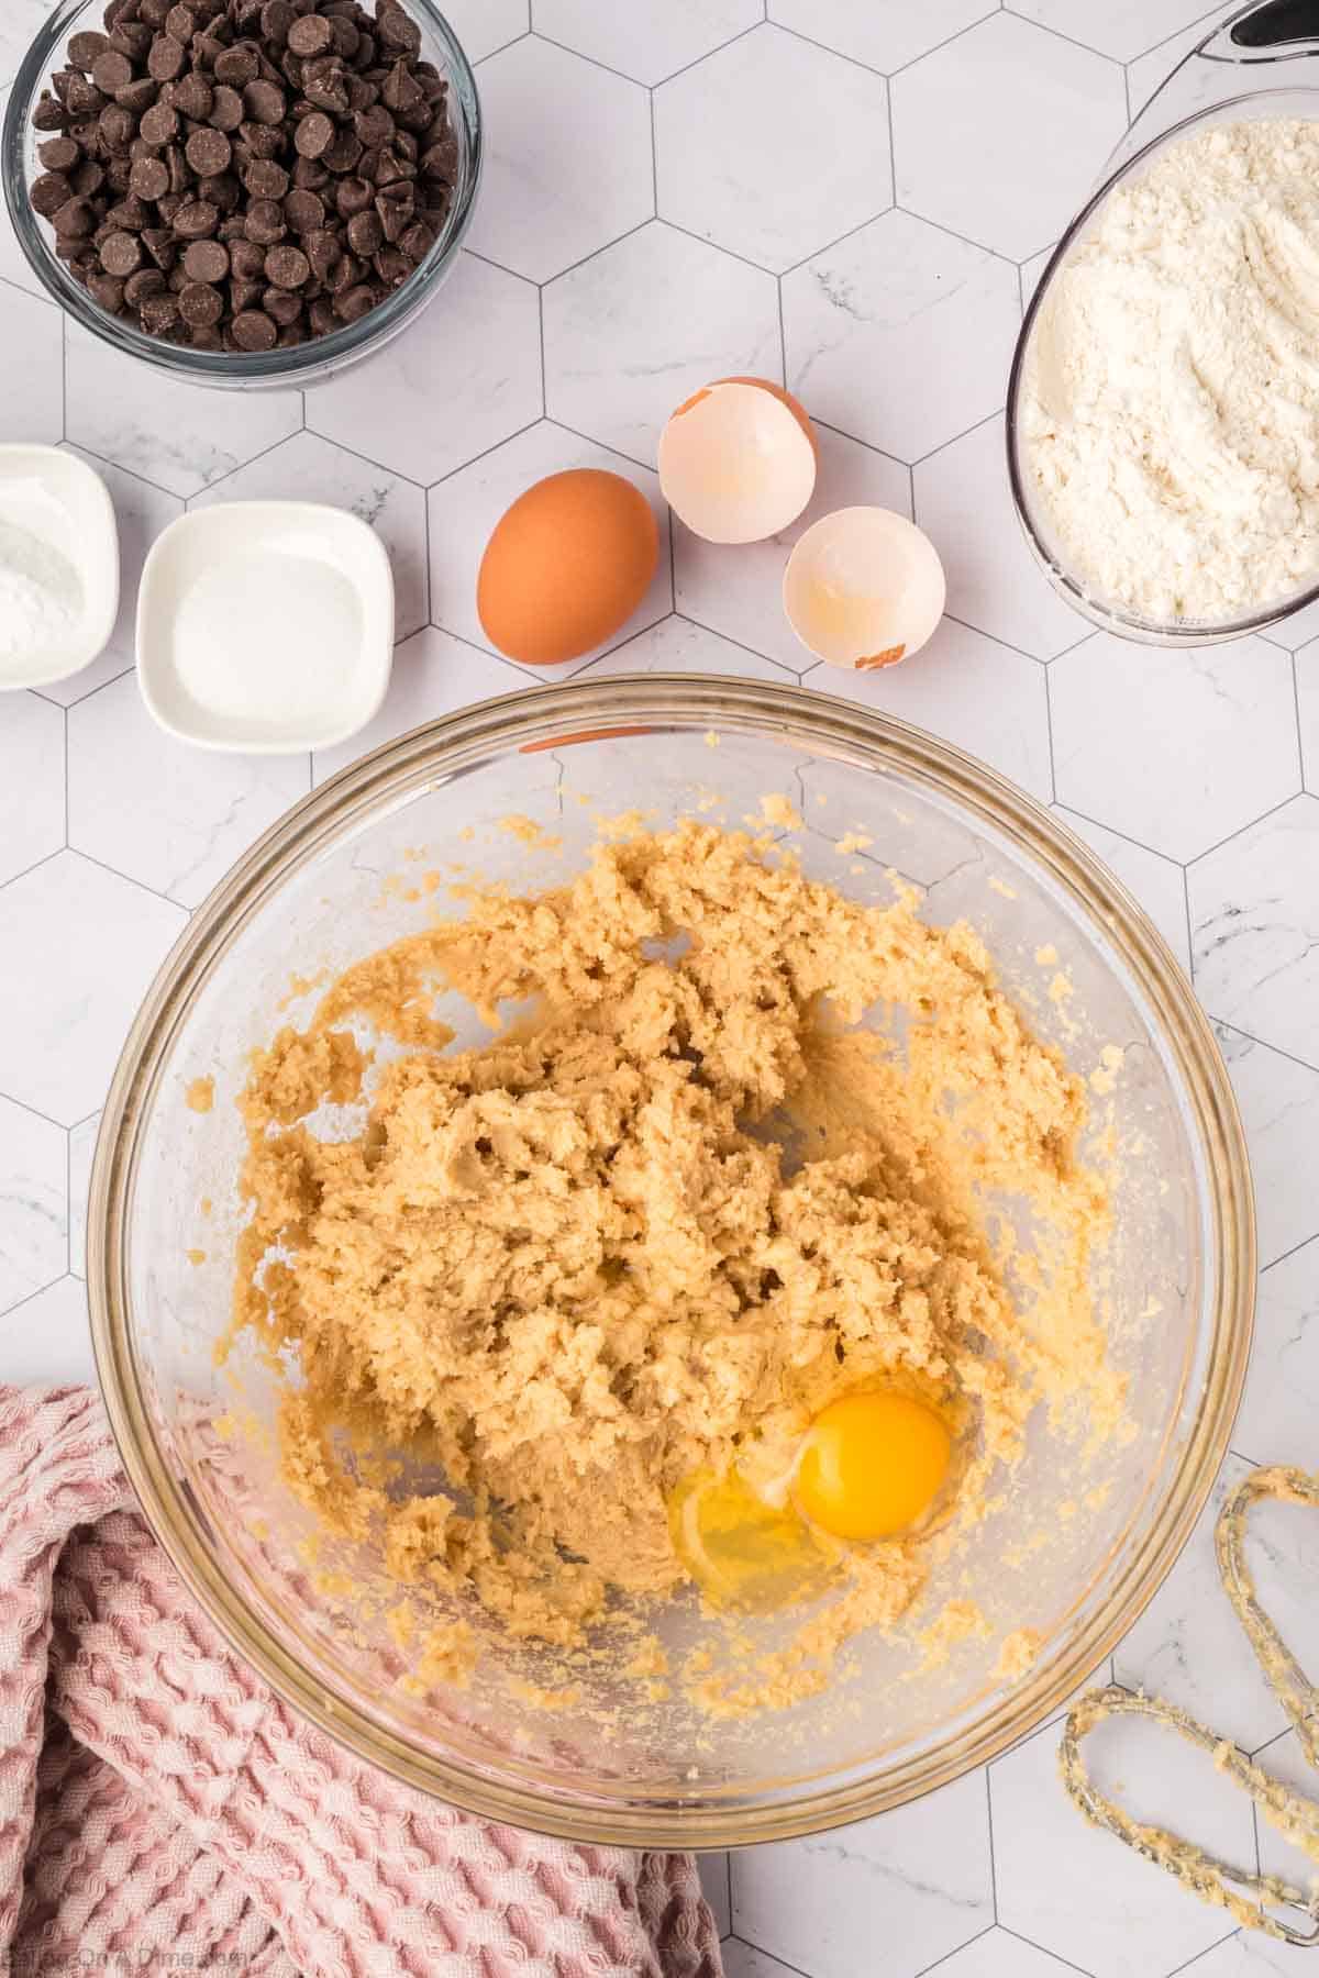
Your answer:
[[[89,667],[115,631],[119,528],[109,489],[63,447],[0,445],[0,524],[36,536],[81,580],[81,609],[57,643],[22,657],[0,651],[0,690],[65,680]]]

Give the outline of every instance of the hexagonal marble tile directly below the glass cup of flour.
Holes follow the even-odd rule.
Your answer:
[[[1048,690],[1058,801],[1169,858],[1299,789],[1291,667],[1262,639],[1173,653],[1099,633]]]

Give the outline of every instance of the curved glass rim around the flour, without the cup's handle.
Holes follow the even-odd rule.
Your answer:
[[[1222,22],[1218,26],[1224,26]],[[1198,49],[1192,49],[1198,53]],[[1123,639],[1139,641],[1141,645],[1165,645],[1165,647],[1198,647],[1198,645],[1222,645],[1228,639],[1244,639],[1254,631],[1266,631],[1279,619],[1289,617],[1293,611],[1301,611],[1305,605],[1315,603],[1319,597],[1319,578],[1307,584],[1305,589],[1293,591],[1289,597],[1275,601],[1272,605],[1260,605],[1248,613],[1234,619],[1151,619],[1139,611],[1125,611],[1121,605],[1109,605],[1101,597],[1096,597],[1078,576],[1074,576],[1060,560],[1060,556],[1050,550],[1044,540],[1044,530],[1038,526],[1030,498],[1026,494],[1026,469],[1022,461],[1020,445],[1020,392],[1026,368],[1026,348],[1030,344],[1030,334],[1034,330],[1036,316],[1048,295],[1048,289],[1058,273],[1062,261],[1070,253],[1076,239],[1088,227],[1090,220],[1096,216],[1099,206],[1107,196],[1135,172],[1139,172],[1153,152],[1163,150],[1173,140],[1194,131],[1198,125],[1218,123],[1224,113],[1240,111],[1246,105],[1258,107],[1274,97],[1291,97],[1297,91],[1307,89],[1315,95],[1315,85],[1291,83],[1279,85],[1277,89],[1248,89],[1236,97],[1224,97],[1218,103],[1204,105],[1202,109],[1190,111],[1187,117],[1179,117],[1171,123],[1167,131],[1159,131],[1151,136],[1139,150],[1131,152],[1115,170],[1105,172],[1101,184],[1090,194],[1086,204],[1080,208],[1076,218],[1068,224],[1066,231],[1052,249],[1040,279],[1034,287],[1034,295],[1026,305],[1020,328],[1016,332],[1016,344],[1012,348],[1012,366],[1009,370],[1009,394],[1005,407],[1005,447],[1007,447],[1007,467],[1009,467],[1009,489],[1012,494],[1012,508],[1016,510],[1016,520],[1026,538],[1026,546],[1034,556],[1034,562],[1050,580],[1060,597],[1064,597],[1074,611],[1078,611],[1090,625],[1099,631],[1113,631]],[[1151,99],[1153,101],[1153,99]],[[1258,109],[1256,109],[1258,115]]]

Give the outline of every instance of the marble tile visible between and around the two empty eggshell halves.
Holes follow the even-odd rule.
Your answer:
[[[783,566],[797,538],[835,508],[872,504],[912,512],[908,469],[876,447],[835,433],[815,431],[819,469],[815,494],[791,528],[767,542],[747,542],[728,550],[702,542],[674,516],[674,595],[678,611],[700,619],[742,645],[767,653],[793,673],[805,673],[815,657],[805,649],[783,615]]]

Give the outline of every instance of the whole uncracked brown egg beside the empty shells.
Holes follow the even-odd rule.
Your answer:
[[[573,467],[526,489],[496,524],[477,613],[508,659],[562,667],[627,625],[657,566],[659,528],[641,489]]]

